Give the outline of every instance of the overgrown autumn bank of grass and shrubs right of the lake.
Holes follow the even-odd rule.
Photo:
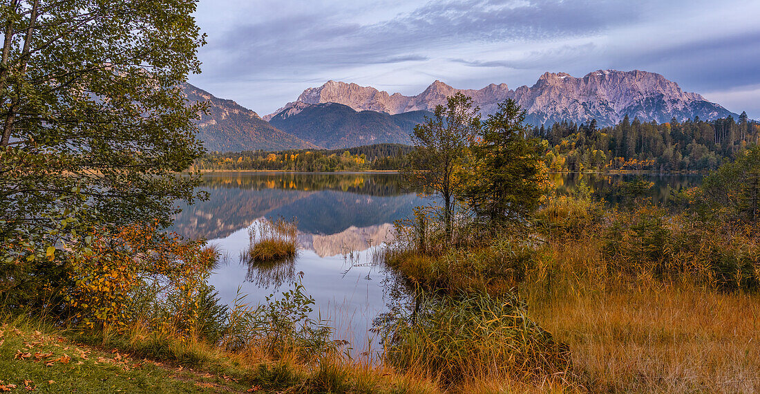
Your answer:
[[[549,200],[527,226],[496,233],[458,227],[448,242],[434,223],[420,223],[401,227],[386,260],[405,285],[432,295],[436,306],[420,307],[422,321],[411,323],[416,336],[406,338],[401,330],[394,340],[420,363],[443,356],[449,361],[443,367],[391,364],[473,377],[449,388],[461,392],[518,386],[549,392],[760,390],[760,242],[752,224],[705,221],[692,211],[647,204],[605,210],[571,196]],[[466,343],[464,354],[420,341],[431,326],[427,311],[437,313],[432,321],[443,328],[473,297],[509,298],[524,307],[492,313],[480,306],[467,323],[454,324],[458,329],[446,342]],[[511,358],[501,361],[482,351],[499,347],[499,330],[473,335],[477,329],[467,328],[518,314],[537,329],[518,330],[524,341],[505,347]],[[541,335],[551,341],[536,347]],[[529,342],[534,345],[524,345]],[[507,373],[496,367],[530,348],[556,355],[553,346],[567,351],[566,369],[521,364]],[[463,365],[491,361],[494,369],[451,370],[457,357]]]

